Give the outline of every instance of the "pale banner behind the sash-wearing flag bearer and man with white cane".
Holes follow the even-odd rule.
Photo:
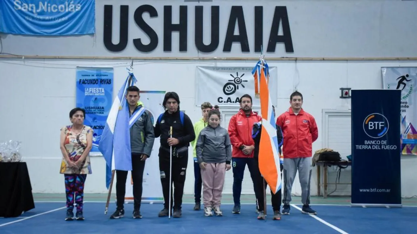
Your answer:
[[[140,91],[139,101],[143,102],[145,108],[151,112],[151,120],[155,126],[156,119],[163,113],[162,102],[165,91]],[[143,192],[142,202],[163,203],[163,194],[161,186],[161,174],[159,173],[159,137],[155,138],[153,143],[151,157],[146,159],[145,170],[143,171]],[[126,182],[125,202],[133,202],[133,180],[131,172],[128,172],[128,181]]]

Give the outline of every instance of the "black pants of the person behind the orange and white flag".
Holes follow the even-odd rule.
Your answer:
[[[255,186],[256,186],[256,191],[255,191],[255,196],[256,196],[256,200],[257,200],[257,204],[258,204],[258,210],[259,212],[264,211],[264,177],[262,177],[261,172],[259,171],[259,165],[258,165],[258,160],[256,158],[256,160],[254,160],[256,163],[256,168],[258,168],[257,173],[256,173],[256,182],[255,182]],[[281,170],[281,177],[282,177],[282,169],[283,166],[282,164],[280,165],[280,170]],[[266,189],[266,181],[265,181],[265,189]],[[272,209],[274,211],[280,211],[281,210],[281,189],[278,190],[278,192],[276,192],[275,194],[272,192],[272,190],[269,190],[271,192],[271,203],[272,203]]]

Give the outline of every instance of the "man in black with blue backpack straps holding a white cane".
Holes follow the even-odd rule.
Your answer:
[[[193,122],[179,109],[179,97],[175,92],[168,92],[163,99],[163,107],[166,109],[158,117],[155,125],[155,137],[160,137],[159,170],[161,173],[161,185],[164,199],[164,208],[159,212],[159,217],[168,216],[168,209],[173,208],[173,217],[181,217],[181,204],[184,192],[185,176],[188,164],[188,146],[196,138]],[[172,126],[172,138],[169,134]],[[170,147],[172,146],[172,155]],[[172,180],[169,174],[170,158],[172,160]],[[172,183],[175,190],[169,195],[169,187]],[[169,203],[171,196],[171,204]]]

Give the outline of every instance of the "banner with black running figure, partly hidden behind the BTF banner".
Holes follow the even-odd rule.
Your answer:
[[[384,89],[401,90],[401,150],[417,155],[417,67],[382,67]]]

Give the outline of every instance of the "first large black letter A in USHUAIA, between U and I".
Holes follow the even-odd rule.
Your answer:
[[[236,21],[239,29],[238,35],[234,34]],[[223,52],[230,52],[233,42],[240,43],[242,52],[249,52],[248,33],[246,32],[245,17],[242,6],[232,6],[230,10],[229,24],[227,25]]]

